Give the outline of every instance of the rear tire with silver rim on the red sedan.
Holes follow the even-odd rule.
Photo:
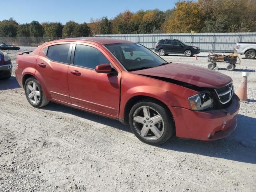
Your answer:
[[[24,90],[28,102],[35,108],[46,106],[49,103],[44,96],[40,83],[36,78],[30,77],[25,81]]]

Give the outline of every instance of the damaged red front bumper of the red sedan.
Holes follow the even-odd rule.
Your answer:
[[[240,100],[234,94],[232,104],[222,110],[192,111],[168,107],[174,117],[177,137],[210,141],[225,138],[236,129]]]

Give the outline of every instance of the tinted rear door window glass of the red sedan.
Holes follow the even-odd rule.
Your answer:
[[[68,50],[70,48],[70,44],[59,44],[48,47],[47,57],[50,60],[69,63],[68,59]]]

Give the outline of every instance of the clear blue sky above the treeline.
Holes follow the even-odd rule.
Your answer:
[[[0,21],[13,17],[19,24],[61,22],[89,23],[91,18],[114,18],[120,12],[174,8],[178,0],[1,0]]]

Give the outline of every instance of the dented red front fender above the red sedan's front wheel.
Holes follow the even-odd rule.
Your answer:
[[[124,118],[126,103],[135,96],[148,96],[166,106],[190,108],[187,98],[198,93],[170,82],[122,72],[119,118]]]

